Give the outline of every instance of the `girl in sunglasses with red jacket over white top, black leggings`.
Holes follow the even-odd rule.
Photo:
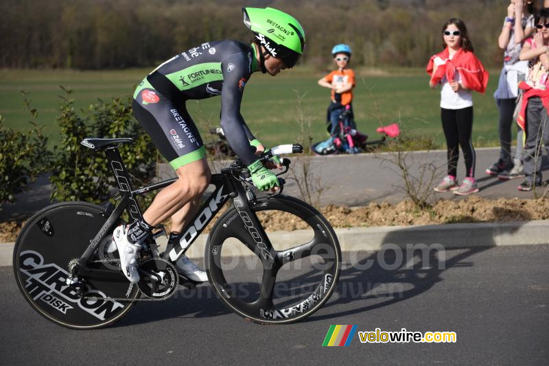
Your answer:
[[[447,145],[448,175],[434,188],[456,195],[478,192],[475,176],[473,132],[473,90],[484,93],[488,73],[473,53],[467,27],[460,19],[449,19],[442,28],[444,51],[432,56],[427,65],[429,85],[441,84],[441,119]],[[458,147],[463,151],[466,174],[457,184]]]

